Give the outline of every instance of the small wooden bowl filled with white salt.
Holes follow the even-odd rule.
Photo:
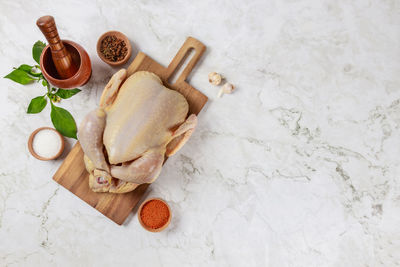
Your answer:
[[[50,127],[41,127],[32,132],[28,140],[29,152],[40,160],[53,160],[64,151],[64,137]]]

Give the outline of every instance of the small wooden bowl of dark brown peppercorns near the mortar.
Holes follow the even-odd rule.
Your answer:
[[[108,31],[97,41],[97,54],[111,66],[125,64],[132,55],[128,37],[118,31]]]

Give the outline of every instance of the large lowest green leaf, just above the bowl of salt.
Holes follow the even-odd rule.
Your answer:
[[[51,102],[50,102],[51,103]],[[66,137],[76,138],[76,124],[71,113],[51,103],[51,121],[54,127]]]

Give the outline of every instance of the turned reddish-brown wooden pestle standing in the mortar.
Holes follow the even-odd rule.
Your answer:
[[[60,78],[67,79],[72,77],[77,72],[79,66],[74,64],[70,53],[60,40],[54,18],[52,16],[40,17],[36,21],[36,25],[49,42],[53,62]]]

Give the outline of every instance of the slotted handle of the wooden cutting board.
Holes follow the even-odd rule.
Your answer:
[[[194,49],[195,54],[186,65],[185,69],[182,71],[181,75],[176,80],[177,82],[185,81],[189,76],[192,69],[196,66],[196,63],[200,60],[206,46],[199,40],[188,37],[182,47],[179,49],[178,53],[175,55],[174,59],[168,65],[167,68],[167,79],[170,79],[172,75],[182,66],[187,56],[190,54],[190,50]]]

